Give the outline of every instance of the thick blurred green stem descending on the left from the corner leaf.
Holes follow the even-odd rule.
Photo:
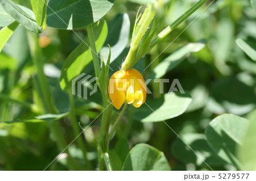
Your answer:
[[[44,74],[43,70],[43,60],[42,60],[42,50],[39,47],[39,35],[34,32],[27,32],[28,36],[28,44],[30,47],[30,53],[32,56],[32,61],[36,68],[36,73],[38,75],[38,84],[37,90],[38,94],[42,94],[42,98],[40,99],[40,102],[43,104],[44,110],[43,113],[57,113],[57,110],[55,108],[55,104],[53,102],[52,94],[49,90],[49,84],[47,81],[47,77]],[[66,148],[67,142],[65,141],[65,137],[63,134],[63,131],[61,130],[59,121],[47,121],[49,129],[51,129],[51,132],[55,135],[57,145],[59,146],[59,149],[62,151]],[[66,151],[68,153],[68,150]],[[68,161],[68,167],[71,170],[81,170],[79,165],[75,162],[75,159],[73,159],[70,154],[68,154],[67,157]]]

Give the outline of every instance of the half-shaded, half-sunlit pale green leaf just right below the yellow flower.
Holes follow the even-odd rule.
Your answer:
[[[146,100],[146,103],[136,110],[133,116],[134,119],[142,122],[164,121],[181,115],[187,109],[191,100],[188,93],[164,94],[159,99]]]

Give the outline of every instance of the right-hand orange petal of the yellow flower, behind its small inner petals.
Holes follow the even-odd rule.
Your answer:
[[[134,92],[141,91],[143,94],[142,104],[146,100],[147,88],[141,73],[136,69],[127,70],[127,87],[133,86]],[[141,105],[140,105],[141,106]],[[136,107],[136,106],[135,106]]]

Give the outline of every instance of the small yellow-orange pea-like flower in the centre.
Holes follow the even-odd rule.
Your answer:
[[[136,69],[119,70],[109,80],[109,96],[117,110],[125,101],[134,107],[140,107],[146,100],[146,90],[143,76]]]

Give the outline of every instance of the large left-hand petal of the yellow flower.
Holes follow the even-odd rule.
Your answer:
[[[115,72],[109,80],[109,97],[114,107],[119,110],[126,99],[127,75],[125,70]]]

